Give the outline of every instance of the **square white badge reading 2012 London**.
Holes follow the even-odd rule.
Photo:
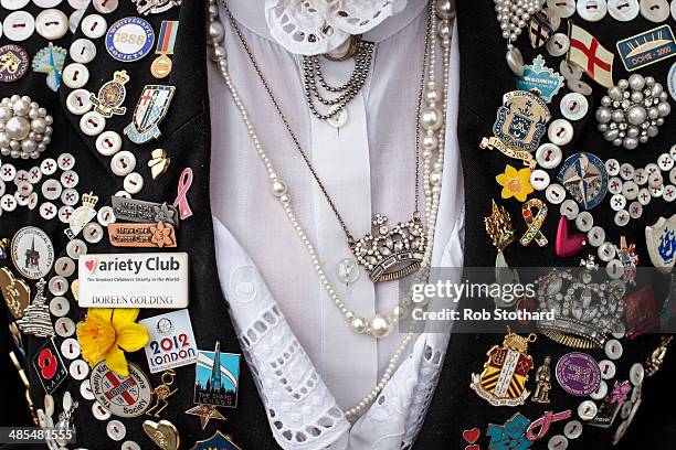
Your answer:
[[[146,357],[150,373],[180,367],[198,361],[198,350],[188,310],[141,320],[148,329],[150,340],[146,345]]]

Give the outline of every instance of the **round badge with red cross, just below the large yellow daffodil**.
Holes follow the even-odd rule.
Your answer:
[[[137,417],[150,406],[150,382],[136,364],[129,363],[129,375],[122,376],[101,362],[92,369],[89,383],[96,400],[115,416]]]

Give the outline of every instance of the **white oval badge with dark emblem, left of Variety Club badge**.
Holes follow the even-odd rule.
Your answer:
[[[46,233],[34,226],[17,232],[11,251],[17,270],[31,280],[46,277],[54,264],[52,240]]]

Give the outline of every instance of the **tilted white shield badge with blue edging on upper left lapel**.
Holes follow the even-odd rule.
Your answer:
[[[157,139],[161,132],[159,122],[167,115],[175,86],[146,85],[134,109],[131,124],[125,127],[125,135],[134,143],[145,143]]]

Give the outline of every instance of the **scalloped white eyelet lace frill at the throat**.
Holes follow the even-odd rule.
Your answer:
[[[293,53],[330,52],[401,12],[408,0],[265,0],[271,35]]]

